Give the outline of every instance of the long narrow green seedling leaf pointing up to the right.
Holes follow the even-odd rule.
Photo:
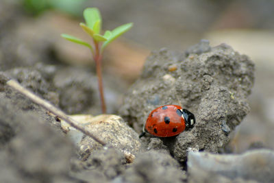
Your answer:
[[[110,38],[108,38],[107,41],[103,42],[103,45],[101,47],[101,52],[103,52],[103,49],[105,49],[105,47],[108,44],[110,44],[110,42],[114,41],[116,38],[118,38],[119,36],[127,32],[130,28],[132,28],[132,26],[133,26],[133,23],[127,23],[113,29],[112,35],[110,36]]]

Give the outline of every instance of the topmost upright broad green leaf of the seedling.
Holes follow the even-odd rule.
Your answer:
[[[88,25],[90,29],[93,29],[97,21],[102,21],[100,11],[97,8],[86,8],[83,14],[86,25]],[[101,29],[101,23],[99,29]]]

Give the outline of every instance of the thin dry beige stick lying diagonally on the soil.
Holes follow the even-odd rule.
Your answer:
[[[90,138],[93,138],[95,141],[97,141],[97,143],[99,143],[103,146],[106,145],[105,142],[101,141],[99,138],[94,136],[92,133],[90,133],[88,130],[86,130],[82,125],[80,125],[77,121],[75,121],[74,119],[72,119],[71,117],[66,115],[64,112],[62,112],[62,110],[56,108],[51,103],[49,103],[48,101],[46,101],[44,99],[41,99],[37,95],[34,95],[34,93],[32,93],[31,91],[29,91],[26,88],[24,88],[23,86],[21,86],[21,84],[19,84],[15,80],[10,80],[7,82],[7,84],[8,84],[8,86],[11,86],[15,90],[17,90],[19,93],[25,95],[27,98],[34,101],[34,103],[37,103],[38,105],[42,106],[46,110],[49,110],[49,112],[55,114],[57,117],[60,117],[60,119],[63,119],[64,121],[66,121],[66,123],[69,123],[69,125],[71,125],[75,129],[79,130],[83,134],[86,134],[87,136],[90,136]]]

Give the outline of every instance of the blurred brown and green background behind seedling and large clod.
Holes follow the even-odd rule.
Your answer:
[[[99,8],[103,29],[134,23],[110,44],[103,58],[104,75],[120,78],[124,91],[154,49],[184,51],[203,38],[212,47],[225,42],[247,54],[256,64],[251,113],[234,133],[230,149],[239,153],[260,146],[274,148],[273,0],[1,0],[1,71],[32,66],[38,60],[95,71],[88,49],[60,38],[61,33],[87,38],[79,27],[87,7]]]

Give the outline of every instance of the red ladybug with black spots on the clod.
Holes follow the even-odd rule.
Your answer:
[[[150,112],[139,138],[146,132],[158,137],[175,136],[191,129],[194,125],[194,114],[181,106],[160,106]]]

